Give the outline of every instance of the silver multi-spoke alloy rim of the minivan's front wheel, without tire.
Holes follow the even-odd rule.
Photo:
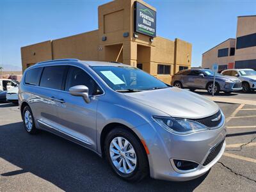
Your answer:
[[[119,172],[132,173],[137,165],[137,156],[131,143],[122,137],[113,138],[109,145],[111,161]]]

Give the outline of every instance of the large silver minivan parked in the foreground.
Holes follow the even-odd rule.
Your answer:
[[[195,179],[225,150],[217,104],[122,63],[37,63],[24,72],[19,105],[28,133],[44,129],[89,148],[125,180]]]

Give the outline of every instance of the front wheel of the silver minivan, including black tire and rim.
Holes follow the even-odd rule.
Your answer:
[[[138,182],[148,175],[147,154],[140,140],[125,127],[116,127],[106,136],[105,155],[118,177]]]

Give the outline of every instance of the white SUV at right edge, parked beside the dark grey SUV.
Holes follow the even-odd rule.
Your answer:
[[[224,76],[238,77],[243,84],[243,92],[256,90],[256,71],[252,68],[232,68],[221,72]]]

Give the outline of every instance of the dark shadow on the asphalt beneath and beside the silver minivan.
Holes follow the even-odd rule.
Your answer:
[[[0,157],[21,169],[3,177],[30,172],[64,191],[193,191],[207,177],[188,182],[147,178],[131,184],[92,151],[49,132],[29,135],[22,122],[0,126]]]

